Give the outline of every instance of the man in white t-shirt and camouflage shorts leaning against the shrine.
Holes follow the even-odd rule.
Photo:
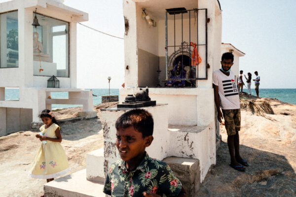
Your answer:
[[[213,88],[217,107],[217,118],[220,123],[224,117],[227,131],[227,144],[231,163],[236,170],[244,171],[249,164],[239,154],[240,104],[234,74],[230,70],[233,65],[232,53],[224,53],[221,59],[221,69],[213,72]],[[222,108],[222,112],[220,110]],[[244,166],[243,166],[244,165]]]

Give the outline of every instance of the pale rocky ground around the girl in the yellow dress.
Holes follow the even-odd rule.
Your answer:
[[[61,127],[62,146],[71,167],[68,174],[71,174],[86,167],[86,153],[103,147],[103,130],[99,119],[62,124]],[[28,176],[40,145],[36,133],[20,131],[0,137],[1,197],[38,197],[43,194],[46,180]]]

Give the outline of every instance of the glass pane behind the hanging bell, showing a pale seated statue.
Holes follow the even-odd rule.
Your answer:
[[[34,75],[69,77],[69,23],[40,14],[37,19],[40,26],[33,27]]]

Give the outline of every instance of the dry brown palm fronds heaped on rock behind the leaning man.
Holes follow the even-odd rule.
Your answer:
[[[265,117],[265,114],[274,114],[270,104],[263,100],[241,100],[241,108],[251,110],[257,116]]]

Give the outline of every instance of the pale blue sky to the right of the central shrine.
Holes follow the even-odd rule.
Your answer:
[[[258,70],[261,88],[296,88],[296,0],[220,3],[222,42],[246,53],[240,69]]]

